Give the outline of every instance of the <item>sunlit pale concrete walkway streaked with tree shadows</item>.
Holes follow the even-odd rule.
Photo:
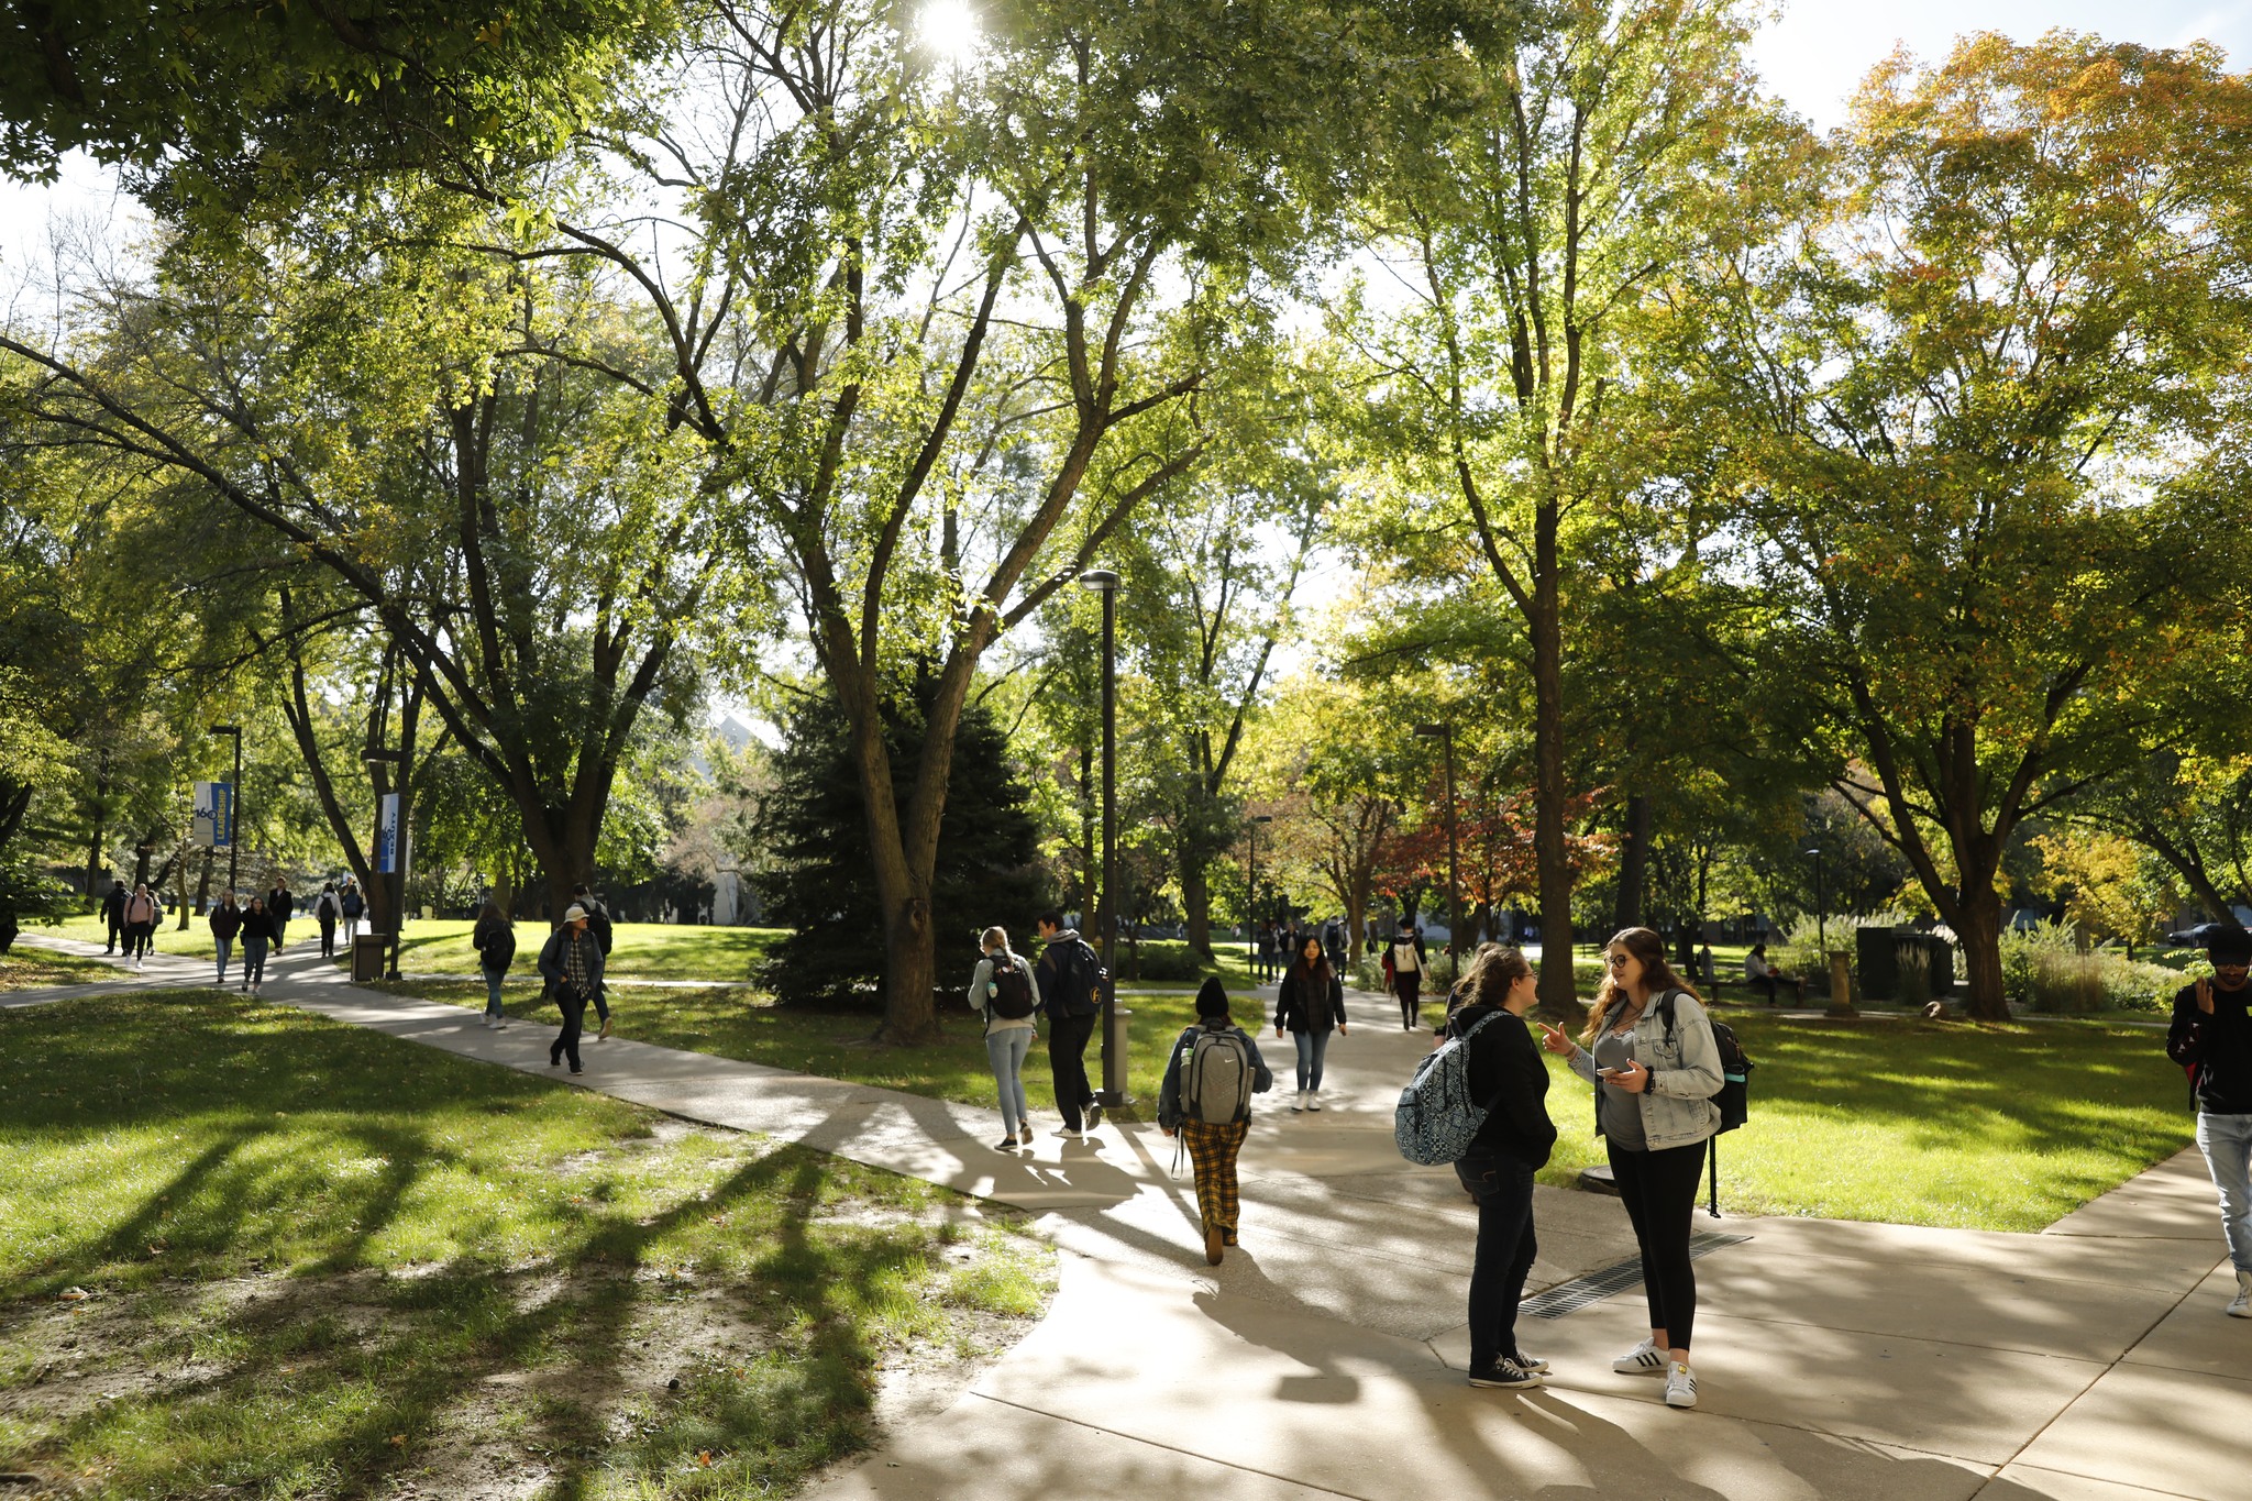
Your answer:
[[[153,956],[119,986],[0,1004],[207,974]],[[266,995],[547,1071],[547,1028],[493,1033],[455,1006],[354,990],[304,952]],[[946,1413],[813,1492],[824,1501],[2252,1501],[2252,1321],[2220,1314],[2232,1276],[2193,1150],[2040,1235],[1700,1213],[1698,1229],[1750,1240],[1698,1262],[1696,1413],[1610,1373],[1642,1334],[1637,1289],[1527,1321],[1525,1346],[1556,1364],[1545,1391],[1464,1386],[1473,1213],[1448,1172],[1389,1143],[1428,1040],[1387,1031],[1376,997],[1365,1013],[1331,1049],[1335,1105],[1252,1125],[1245,1244],[1218,1269],[1153,1127],[1007,1157],[984,1145],[991,1109],[622,1040],[568,1082],[1022,1206],[1063,1249],[1047,1319]],[[1633,1251],[1612,1199],[1540,1188],[1536,1217],[1536,1287]]]

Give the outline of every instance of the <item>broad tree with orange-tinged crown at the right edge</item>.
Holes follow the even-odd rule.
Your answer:
[[[2139,763],[2160,684],[2241,635],[2214,527],[2245,376],[2252,81],[2052,34],[1878,70],[1768,252],[1684,295],[1741,572],[1788,603],[1775,704],[2007,1015],[2020,824]],[[1727,414],[1723,421],[1721,414]]]

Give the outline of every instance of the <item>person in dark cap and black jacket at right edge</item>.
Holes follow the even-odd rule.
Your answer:
[[[2189,1069],[2198,1100],[2198,1150],[2220,1190],[2220,1233],[2236,1269],[2236,1296],[2227,1312],[2252,1319],[2252,934],[2236,923],[2207,923],[2173,934],[2205,950],[2214,961],[2209,979],[2182,986],[2173,997],[2166,1055]]]

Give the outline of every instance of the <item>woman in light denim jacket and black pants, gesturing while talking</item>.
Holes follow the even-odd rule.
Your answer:
[[[1721,1130],[1714,1103],[1727,1082],[1721,1044],[1705,1001],[1666,963],[1664,938],[1655,932],[1621,929],[1606,945],[1603,963],[1603,986],[1579,1044],[1543,1024],[1540,1046],[1570,1058],[1572,1071],[1594,1087],[1594,1127],[1642,1247],[1651,1337],[1610,1368],[1664,1375],[1666,1406],[1696,1406],[1689,1213],[1707,1143]]]

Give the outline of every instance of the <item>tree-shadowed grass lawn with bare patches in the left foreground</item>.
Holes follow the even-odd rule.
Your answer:
[[[284,1006],[0,1055],[0,1454],[70,1494],[781,1494],[1052,1283],[944,1188]]]

